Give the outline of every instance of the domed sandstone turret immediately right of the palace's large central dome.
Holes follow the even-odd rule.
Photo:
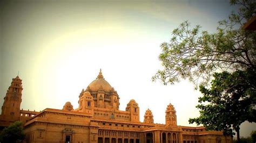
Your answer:
[[[133,99],[127,104],[125,111],[131,112],[131,121],[139,121],[139,106]]]

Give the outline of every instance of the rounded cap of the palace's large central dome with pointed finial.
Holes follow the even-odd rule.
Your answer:
[[[92,81],[88,87],[91,91],[98,91],[100,89],[109,92],[112,89],[111,85],[103,78],[102,69],[100,69],[96,80]]]

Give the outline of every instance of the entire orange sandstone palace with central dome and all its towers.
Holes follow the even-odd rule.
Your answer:
[[[62,110],[21,110],[22,80],[12,78],[4,97],[1,130],[21,120],[24,123],[24,142],[69,143],[212,143],[232,142],[220,131],[206,131],[205,127],[178,126],[176,110],[166,105],[165,124],[154,123],[150,109],[140,122],[139,104],[131,99],[125,111],[119,110],[117,91],[105,80],[100,70],[96,80],[80,92],[79,107],[73,109],[66,102]]]

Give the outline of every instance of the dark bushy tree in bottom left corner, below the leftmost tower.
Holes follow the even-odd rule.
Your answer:
[[[25,139],[22,121],[15,121],[9,127],[5,127],[0,134],[0,142],[17,142]]]

